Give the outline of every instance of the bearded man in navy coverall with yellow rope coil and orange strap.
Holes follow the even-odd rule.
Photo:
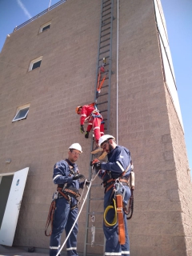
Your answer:
[[[107,153],[108,162],[93,161],[90,166],[93,166],[98,176],[102,178],[102,184],[105,187],[103,222],[106,237],[105,255],[128,256],[130,255],[130,241],[125,211],[130,199],[130,187],[128,186],[131,170],[130,151],[124,146],[118,146],[112,135],[103,135],[99,139],[99,146]],[[114,203],[113,208],[111,206],[113,198],[119,195],[122,198],[122,206],[115,206]],[[114,209],[117,210],[116,220]]]

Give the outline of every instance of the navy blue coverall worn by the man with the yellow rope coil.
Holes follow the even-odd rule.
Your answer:
[[[122,176],[122,172],[126,170],[126,168],[130,165],[130,151],[126,149],[124,146],[116,146],[114,150],[111,150],[109,154],[107,154],[108,162],[102,163],[102,171],[100,170],[98,176],[103,179],[105,183],[107,180],[111,178],[119,178]],[[105,172],[106,170],[106,172]],[[126,175],[122,178],[128,178],[130,175],[130,168],[128,168]],[[127,205],[130,199],[130,187],[124,186],[126,189],[126,194],[123,199],[123,203]],[[113,188],[108,190],[104,196],[104,211],[106,207],[110,205],[110,196]],[[120,245],[118,242],[118,222],[114,226],[106,226],[103,223],[103,231],[106,237],[106,250],[105,255],[122,255],[128,256],[130,255],[130,241],[128,235],[128,228],[126,222],[126,214],[123,213],[124,224],[125,224],[125,233],[126,233],[126,243],[124,245]],[[107,222],[112,222],[114,219],[114,211],[109,210],[107,214]]]

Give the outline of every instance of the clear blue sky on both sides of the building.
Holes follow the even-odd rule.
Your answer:
[[[12,33],[15,26],[56,2],[58,0],[0,0],[0,51],[6,35]],[[192,169],[192,1],[162,0],[162,8],[182,110],[187,155]]]

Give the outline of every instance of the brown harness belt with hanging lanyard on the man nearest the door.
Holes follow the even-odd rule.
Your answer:
[[[45,229],[46,237],[49,237],[51,235],[51,233],[52,233],[52,230],[53,230],[54,211],[56,209],[56,202],[55,202],[55,200],[58,199],[58,198],[66,198],[66,200],[70,203],[71,197],[76,198],[76,200],[78,201],[77,198],[79,196],[80,196],[80,194],[78,194],[78,190],[76,190],[73,187],[65,188],[65,189],[62,189],[62,187],[58,187],[57,191],[54,192],[54,197],[53,197],[53,200],[52,200],[52,202],[50,204],[50,210],[49,210],[48,217],[47,217],[47,220],[46,220],[46,229]],[[78,207],[79,202],[80,202],[80,200],[78,201],[77,205],[75,205],[72,208],[70,208],[70,210],[73,210],[74,208]],[[48,227],[50,225],[51,225],[51,227],[50,227],[50,234],[47,234],[47,230],[48,230]]]

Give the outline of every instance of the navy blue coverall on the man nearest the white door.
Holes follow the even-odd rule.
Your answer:
[[[71,175],[70,166],[73,167],[74,174],[79,174],[78,166],[75,163],[70,162],[68,159],[61,160],[54,165],[54,184],[62,186],[66,184],[66,188],[69,186],[76,188],[77,190],[83,188],[84,182],[73,180],[73,174]],[[69,203],[66,198],[60,197],[56,199],[56,210],[54,212],[53,230],[50,236],[50,256],[58,254],[60,249],[60,241],[62,231],[66,230],[66,236],[69,234],[71,227],[74,225],[74,221],[78,216],[77,199],[71,197]],[[74,208],[73,208],[74,207]],[[72,209],[71,209],[72,208]],[[77,235],[78,235],[78,223],[76,222],[70,236],[66,242],[66,251],[68,256],[78,255],[77,253]]]

